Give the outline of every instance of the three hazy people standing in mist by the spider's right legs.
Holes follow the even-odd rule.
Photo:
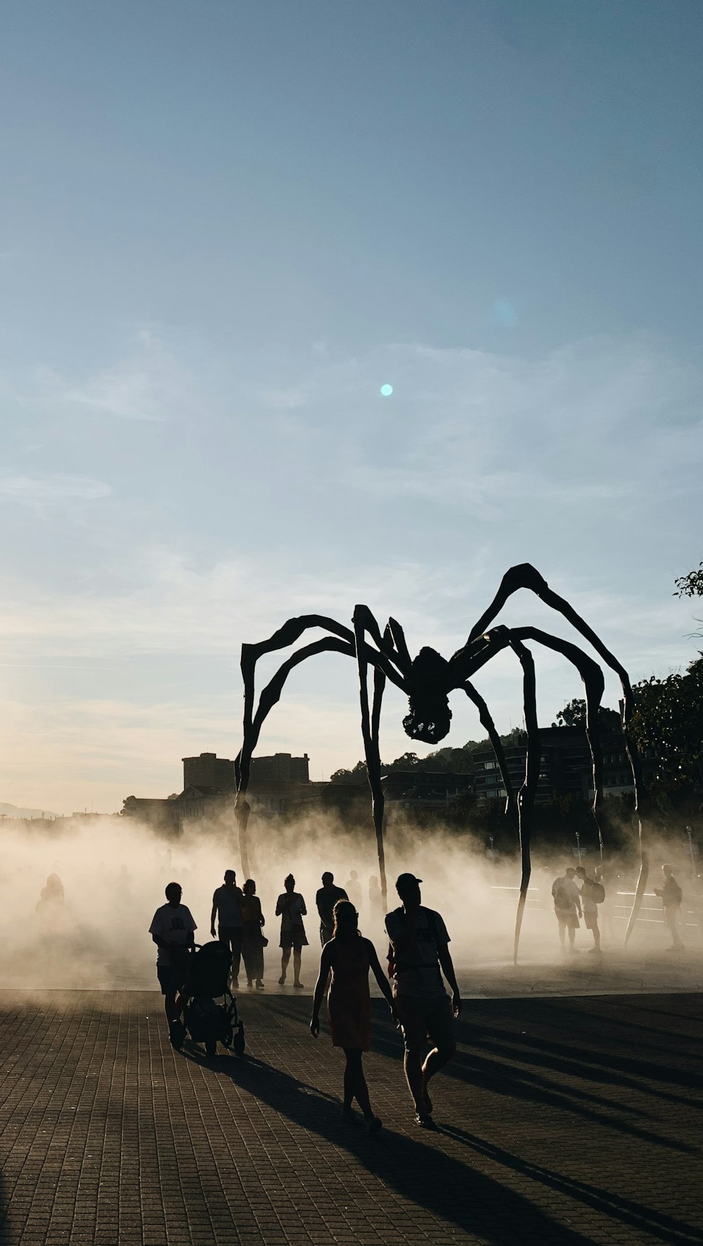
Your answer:
[[[662,901],[664,922],[672,936],[669,951],[683,948],[683,941],[678,930],[678,918],[683,892],[674,878],[671,865],[662,866],[663,881],[661,887],[654,887],[654,895]],[[590,877],[585,866],[568,867],[563,875],[555,878],[552,883],[552,898],[555,913],[558,923],[558,938],[562,952],[577,952],[576,931],[581,926],[581,920],[586,930],[593,936],[593,947],[590,952],[601,952],[601,930],[598,927],[598,905],[606,898],[606,888],[602,880],[596,875]]]

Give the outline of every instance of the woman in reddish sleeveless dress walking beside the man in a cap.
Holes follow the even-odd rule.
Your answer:
[[[363,1053],[371,1045],[371,1001],[369,996],[369,969],[373,971],[385,1001],[395,1015],[390,984],[385,977],[370,939],[359,933],[359,915],[348,900],[338,900],[334,906],[334,934],[323,947],[320,972],[313,999],[310,1034],[320,1032],[319,1011],[332,972],[327,997],[329,1028],[334,1047],[342,1047],[347,1057],[344,1069],[343,1115],[352,1118],[354,1099],[364,1113],[370,1134],[378,1134],[381,1121],[369,1101],[369,1088],[361,1063]]]

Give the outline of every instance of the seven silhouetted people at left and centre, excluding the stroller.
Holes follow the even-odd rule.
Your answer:
[[[415,1121],[421,1128],[431,1129],[429,1083],[456,1050],[454,1019],[461,1011],[444,920],[440,913],[421,903],[421,878],[401,873],[395,885],[400,906],[385,915],[389,941],[385,974],[371,939],[364,938],[359,931],[359,913],[348,898],[347,890],[335,887],[334,875],[329,871],[323,875],[322,882],[315,897],[320,917],[322,956],[310,1033],[314,1038],[319,1035],[319,1013],[328,991],[332,1042],[334,1047],[343,1048],[347,1058],[343,1114],[353,1116],[353,1104],[356,1100],[369,1133],[375,1134],[381,1128],[379,1116],[371,1109],[363,1068],[364,1052],[371,1045],[369,972],[373,972],[403,1032],[404,1069]],[[300,949],[308,942],[303,925],[305,902],[295,891],[293,875],[288,875],[284,886],[275,906],[275,912],[282,918],[279,983],[285,982],[293,951],[294,986],[302,986]],[[158,982],[165,996],[170,1033],[173,1033],[179,1019],[179,991],[187,974],[187,958],[194,947],[197,926],[189,908],[182,903],[182,888],[177,882],[170,882],[166,887],[166,901],[155,913],[150,933],[158,948]],[[219,922],[218,937],[232,952],[233,984],[237,983],[243,957],[248,984],[252,986],[252,981],[256,981],[257,986],[263,986],[263,977],[257,974],[259,969],[263,974],[264,918],[253,880],[247,880],[244,888],[239,891],[234,871],[226,872],[224,885],[213,896],[213,938],[216,918]],[[444,979],[451,996],[446,993]],[[430,1052],[425,1055],[428,1045]]]

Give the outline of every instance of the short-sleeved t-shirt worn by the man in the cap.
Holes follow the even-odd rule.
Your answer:
[[[410,915],[394,908],[385,916],[385,928],[394,951],[394,993],[419,999],[446,996],[438,944],[449,943],[449,934],[440,915],[424,907]]]

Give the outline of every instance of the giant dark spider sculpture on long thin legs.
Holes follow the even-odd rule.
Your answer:
[[[593,765],[593,817],[598,831],[601,855],[603,851],[603,839],[598,820],[600,805],[602,800],[602,755],[600,746],[598,709],[603,694],[605,680],[600,665],[590,658],[578,645],[560,637],[550,635],[535,627],[494,627],[492,623],[505,602],[519,588],[530,588],[547,606],[558,611],[576,629],[585,637],[603,662],[617,673],[622,684],[622,730],[627,748],[632,779],[634,785],[634,802],[639,829],[639,856],[641,868],[637,883],[634,902],[629,916],[626,943],[629,938],[637,912],[639,910],[648,873],[648,860],[643,842],[643,804],[646,800],[642,785],[639,759],[633,741],[629,738],[628,725],[633,709],[632,687],[624,668],[617,658],[606,648],[603,642],[588,627],[572,606],[555,593],[542,578],[542,576],[530,566],[522,563],[511,567],[504,576],[500,588],[489,606],[481,614],[477,623],[469,633],[466,644],[446,660],[435,649],[423,648],[416,658],[411,658],[405,643],[403,628],[395,619],[389,619],[381,634],[376,619],[366,606],[356,606],[353,616],[353,629],[344,627],[335,619],[323,614],[302,614],[298,618],[288,619],[274,632],[268,640],[259,644],[242,645],[242,674],[244,678],[244,735],[241,753],[236,761],[237,773],[237,801],[236,812],[239,826],[239,846],[242,852],[242,867],[244,875],[248,873],[247,857],[247,821],[249,805],[247,802],[247,787],[249,782],[249,770],[253,750],[257,746],[259,734],[267,714],[277,704],[283,690],[285,679],[294,667],[312,658],[317,653],[344,653],[356,660],[359,670],[359,687],[361,701],[361,735],[364,738],[364,751],[369,785],[371,789],[371,810],[376,834],[376,846],[379,856],[379,872],[384,905],[386,901],[386,880],[384,862],[384,794],[381,789],[381,764],[379,754],[379,725],[381,699],[386,679],[403,689],[410,700],[410,711],[403,719],[405,733],[413,740],[424,740],[426,744],[438,744],[449,733],[451,710],[449,708],[449,693],[459,690],[466,694],[479,710],[479,718],[487,731],[495,750],[502,782],[506,791],[506,815],[514,817],[517,824],[517,835],[521,852],[521,880],[520,898],[517,902],[517,915],[515,922],[515,959],[517,961],[517,948],[520,942],[520,928],[522,913],[530,882],[530,830],[532,822],[532,809],[535,792],[540,774],[541,744],[537,729],[537,706],[535,699],[535,664],[532,654],[526,647],[526,640],[546,645],[567,658],[578,670],[586,690],[586,735],[591,750]],[[313,640],[304,648],[298,649],[278,669],[273,679],[262,690],[258,705],[254,711],[254,677],[258,659],[277,649],[283,649],[307,632],[309,628],[322,628],[332,633],[319,640]],[[525,725],[527,729],[527,760],[525,768],[525,780],[517,792],[515,792],[507,770],[505,754],[496,731],[494,720],[489,713],[484,698],[471,684],[474,675],[501,649],[510,647],[516,654],[522,667],[522,687],[525,703]],[[368,672],[373,668],[373,698],[369,705]]]

